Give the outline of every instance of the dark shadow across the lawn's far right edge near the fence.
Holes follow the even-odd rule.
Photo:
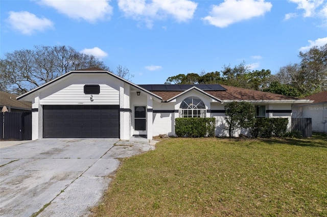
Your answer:
[[[302,138],[302,139],[260,139],[267,144],[275,144],[276,142],[295,145],[295,146],[307,146],[307,147],[323,147],[327,148],[327,134],[324,133],[315,133],[311,138]]]

